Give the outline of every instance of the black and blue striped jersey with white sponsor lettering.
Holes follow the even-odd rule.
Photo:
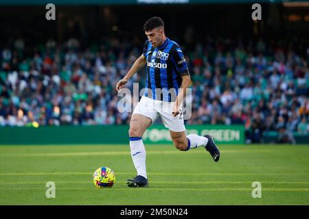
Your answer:
[[[189,75],[187,62],[179,44],[167,38],[161,47],[154,48],[146,40],[143,54],[147,64],[144,96],[159,101],[174,102],[181,88],[181,76]]]

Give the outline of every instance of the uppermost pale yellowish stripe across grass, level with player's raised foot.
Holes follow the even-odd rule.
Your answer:
[[[269,150],[220,150],[220,153],[270,153]],[[183,154],[181,151],[146,151],[147,155]],[[205,150],[196,150],[194,153],[205,153]],[[194,154],[190,151],[189,154]],[[67,152],[67,153],[2,153],[0,157],[67,157],[67,156],[104,156],[104,155],[130,155],[129,151],[93,151],[93,152]]]

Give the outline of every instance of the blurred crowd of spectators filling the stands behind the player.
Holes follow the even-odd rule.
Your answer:
[[[0,126],[128,124],[130,113],[117,110],[115,83],[143,44],[106,38],[82,47],[70,38],[29,49],[16,38],[0,48]],[[309,51],[210,36],[181,47],[192,79],[186,124],[244,124],[250,142],[264,131],[309,133]],[[145,81],[141,70],[127,87],[138,82],[141,89]]]

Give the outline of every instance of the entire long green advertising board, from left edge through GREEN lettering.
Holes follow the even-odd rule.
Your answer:
[[[209,134],[223,144],[244,143],[242,125],[187,125],[187,134]],[[128,125],[0,127],[0,144],[128,144]],[[153,125],[144,133],[145,144],[172,144],[170,131]]]

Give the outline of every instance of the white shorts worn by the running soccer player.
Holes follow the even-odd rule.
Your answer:
[[[170,129],[170,131],[185,131],[182,114],[178,114],[177,116],[172,115],[173,103],[174,102],[157,101],[147,96],[141,96],[141,100],[137,103],[133,114],[146,116],[152,120],[152,123],[155,123],[155,120],[160,115],[164,126]]]

